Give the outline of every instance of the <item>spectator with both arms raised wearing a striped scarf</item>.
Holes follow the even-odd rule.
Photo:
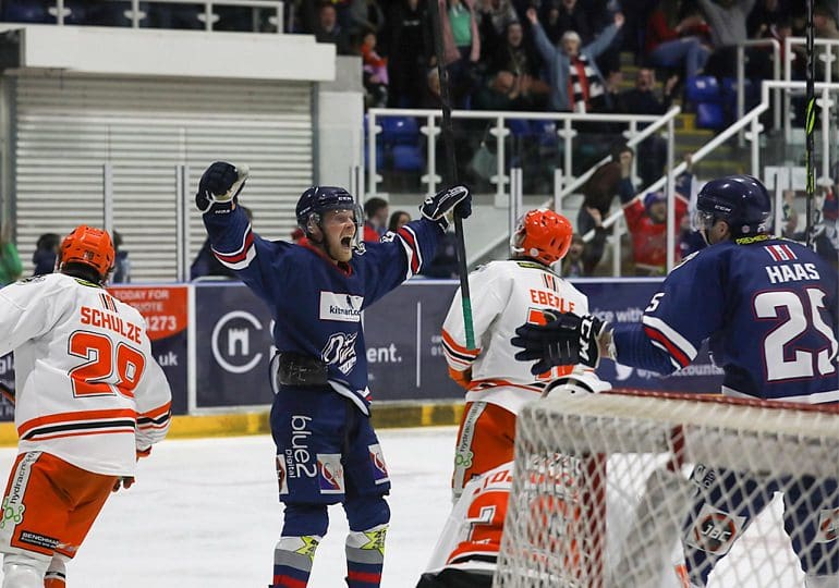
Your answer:
[[[607,26],[596,40],[580,48],[580,35],[568,32],[562,36],[560,47],[555,47],[539,25],[536,9],[527,10],[538,47],[548,68],[550,83],[549,105],[552,110],[574,112],[607,111],[611,105],[603,74],[595,58],[611,44],[618,29],[623,26],[623,15],[615,15],[615,24]]]

